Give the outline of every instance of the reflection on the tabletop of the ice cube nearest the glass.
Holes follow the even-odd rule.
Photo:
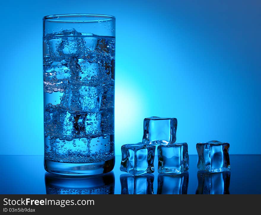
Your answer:
[[[153,194],[153,174],[120,176],[121,194]]]

